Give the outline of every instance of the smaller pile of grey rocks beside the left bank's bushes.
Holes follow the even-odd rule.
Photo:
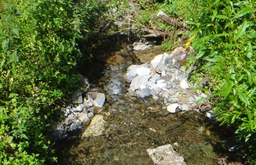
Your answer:
[[[82,77],[81,81],[83,90],[85,90],[89,85],[88,79]],[[95,107],[102,107],[106,97],[104,93],[89,91],[87,97],[83,98],[82,91],[76,91],[72,95],[72,100],[77,104],[70,104],[67,108],[56,110],[55,114],[64,114],[66,118],[60,123],[54,123],[52,133],[52,140],[54,141],[65,139],[69,133],[89,126],[91,118],[94,116]]]

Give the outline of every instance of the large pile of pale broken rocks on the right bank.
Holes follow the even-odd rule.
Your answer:
[[[155,101],[161,97],[163,109],[171,113],[192,109],[199,112],[196,102],[206,98],[206,94],[191,89],[184,66],[180,66],[173,54],[160,54],[150,64],[131,65],[124,78],[130,83],[126,95],[152,96]]]

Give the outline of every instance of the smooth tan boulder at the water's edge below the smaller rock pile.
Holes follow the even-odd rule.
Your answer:
[[[104,131],[105,123],[106,123],[106,121],[103,120],[102,115],[95,115],[91,121],[91,124],[84,131],[82,137],[101,135]]]

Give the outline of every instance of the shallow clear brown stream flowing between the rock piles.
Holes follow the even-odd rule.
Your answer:
[[[58,164],[153,165],[146,149],[166,144],[171,144],[188,165],[217,165],[218,158],[229,157],[228,149],[237,141],[231,131],[219,127],[205,113],[167,113],[161,104],[164,99],[129,94],[123,75],[130,65],[141,62],[127,50],[131,44],[116,39],[111,45],[115,46],[99,48],[93,64],[80,67],[92,84],[91,90],[106,95],[103,107],[93,111],[95,116],[103,116],[103,131],[82,137],[86,129],[82,125],[80,131],[56,142]],[[151,49],[144,54],[152,53],[163,52]]]

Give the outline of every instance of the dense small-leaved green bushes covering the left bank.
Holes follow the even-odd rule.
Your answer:
[[[93,0],[11,0],[0,7],[0,164],[44,164],[52,113],[80,75],[77,43],[103,9]],[[89,47],[89,46],[87,46]]]

